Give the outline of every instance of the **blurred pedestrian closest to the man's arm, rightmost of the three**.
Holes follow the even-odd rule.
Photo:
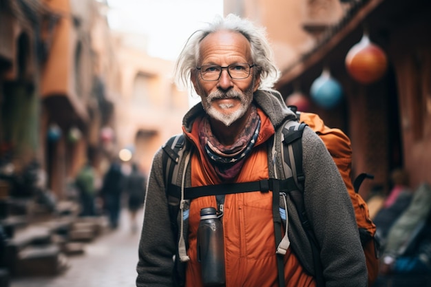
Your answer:
[[[146,179],[138,164],[132,164],[132,172],[127,177],[125,184],[125,193],[127,193],[127,209],[130,216],[132,232],[138,229],[136,214],[143,207],[145,195]]]

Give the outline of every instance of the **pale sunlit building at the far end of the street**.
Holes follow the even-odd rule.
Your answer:
[[[157,149],[182,132],[182,116],[189,108],[187,92],[174,85],[174,63],[149,56],[145,35],[115,33],[120,65],[120,93],[115,105],[116,152],[132,151],[132,162],[149,172]]]

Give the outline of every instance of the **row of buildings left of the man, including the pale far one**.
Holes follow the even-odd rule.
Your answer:
[[[102,177],[129,149],[145,171],[158,147],[181,131],[187,92],[173,84],[173,63],[113,32],[106,1],[1,1],[0,167],[20,177],[34,163],[46,188],[67,199],[90,160]],[[168,116],[169,115],[169,116]],[[28,193],[8,180],[10,193]],[[13,194],[12,194],[13,195]],[[27,194],[29,195],[29,194]]]

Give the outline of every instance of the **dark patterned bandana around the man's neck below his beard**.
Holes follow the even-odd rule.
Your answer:
[[[246,126],[242,130],[238,141],[233,145],[224,146],[211,131],[209,118],[204,117],[199,125],[200,145],[210,162],[213,164],[215,172],[223,182],[230,182],[240,172],[244,159],[251,153],[257,136],[260,131],[260,117],[256,107],[251,105],[251,113]]]

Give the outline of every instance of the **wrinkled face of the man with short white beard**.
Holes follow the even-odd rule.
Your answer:
[[[238,32],[219,31],[211,33],[200,42],[198,66],[233,63],[249,63],[251,51],[249,41]],[[202,106],[209,116],[229,127],[248,111],[253,92],[259,87],[260,77],[251,68],[250,76],[240,80],[229,76],[226,69],[218,81],[204,81],[199,70],[191,72],[191,81],[202,99]]]

